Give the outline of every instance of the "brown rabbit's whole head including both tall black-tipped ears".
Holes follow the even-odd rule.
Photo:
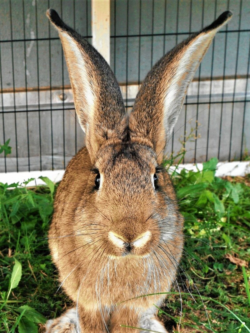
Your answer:
[[[96,242],[107,257],[132,260],[163,248],[175,267],[182,252],[183,218],[170,178],[161,167],[164,149],[188,85],[231,12],[223,13],[155,64],[140,87],[130,116],[103,57],[54,10],[47,15],[62,41],[90,160],[87,184],[82,185],[72,222],[75,231],[85,234],[84,242],[89,239],[93,246],[92,221],[99,225]],[[76,241],[81,244],[82,238]]]

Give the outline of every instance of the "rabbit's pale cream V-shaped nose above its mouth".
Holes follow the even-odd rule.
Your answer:
[[[117,233],[115,233],[113,231],[109,231],[108,238],[114,245],[116,245],[120,248],[129,247],[131,250],[132,247],[135,247],[135,248],[143,247],[151,238],[151,232],[146,231],[130,242],[128,242],[123,236],[118,235]]]

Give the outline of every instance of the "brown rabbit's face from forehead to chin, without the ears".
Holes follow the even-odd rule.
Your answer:
[[[86,225],[89,241],[94,228],[87,224],[98,225],[96,246],[109,257],[147,256],[164,242],[181,254],[182,217],[169,176],[151,147],[128,143],[101,148],[85,195],[77,219],[81,229]]]

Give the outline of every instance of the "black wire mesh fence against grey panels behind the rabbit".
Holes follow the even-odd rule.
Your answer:
[[[91,1],[2,0],[0,143],[12,153],[0,171],[65,168],[84,144],[57,32],[45,12],[91,42]],[[250,149],[250,2],[111,1],[110,65],[131,110],[145,75],[177,43],[230,9],[233,18],[209,48],[190,85],[166,154],[185,162],[244,159]]]

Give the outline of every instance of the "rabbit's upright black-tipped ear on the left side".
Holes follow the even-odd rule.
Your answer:
[[[74,94],[76,113],[86,134],[92,163],[106,140],[124,141],[128,119],[116,78],[104,58],[53,9],[47,16],[62,42]]]

